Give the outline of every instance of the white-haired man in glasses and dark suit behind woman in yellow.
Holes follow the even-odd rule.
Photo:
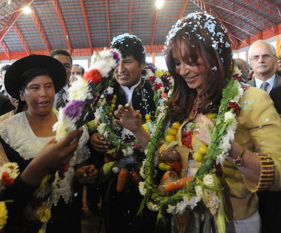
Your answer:
[[[270,93],[274,107],[281,114],[281,77],[275,73],[277,58],[274,46],[264,40],[254,42],[249,50],[249,59],[254,74],[248,84]],[[280,232],[281,192],[260,192],[258,197],[262,232]]]

